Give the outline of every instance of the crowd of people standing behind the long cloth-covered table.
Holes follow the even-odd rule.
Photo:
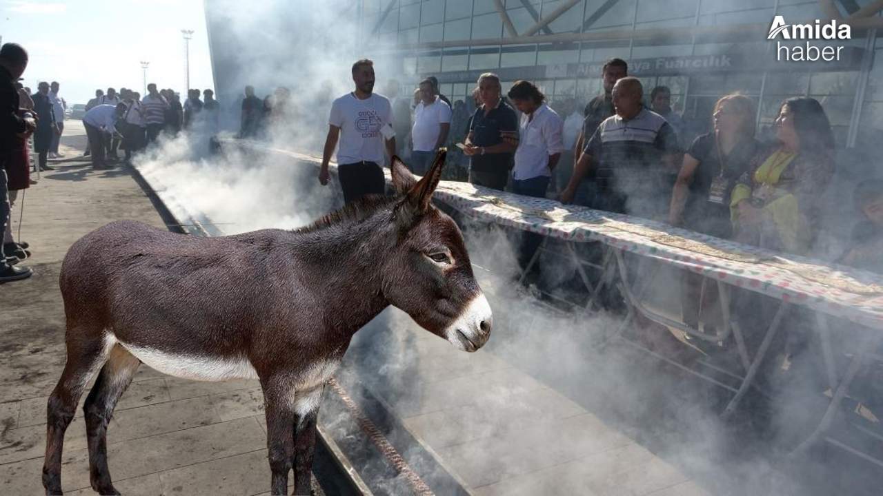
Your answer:
[[[754,101],[723,95],[714,106],[713,129],[687,142],[688,126],[672,109],[669,88],[656,86],[645,98],[641,81],[629,76],[620,58],[604,64],[604,91],[582,112],[572,98],[551,105],[530,81],[517,81],[504,94],[490,72],[477,81],[471,115],[464,101],[451,107],[434,77],[414,89],[412,111],[397,96],[395,81],[389,85],[393,98],[374,93],[370,60],[354,64],[352,77],[356,90],[331,106],[321,172],[324,184],[339,145],[347,201],[381,192],[379,168],[392,154],[407,157],[423,174],[440,147],[450,152],[459,144],[469,181],[495,190],[801,255],[814,254],[824,235],[820,202],[834,176],[834,133],[822,105],[810,97],[782,101],[775,137],[763,140]],[[245,122],[245,101],[243,109]],[[883,201],[867,184],[877,183],[863,182],[855,193],[863,222],[838,261],[879,270],[872,249],[855,249],[859,243],[883,248]]]

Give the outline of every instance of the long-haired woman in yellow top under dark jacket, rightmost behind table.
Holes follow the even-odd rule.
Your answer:
[[[742,243],[804,254],[834,175],[834,133],[819,101],[808,97],[784,101],[775,123],[778,143],[758,154],[733,189],[733,229]]]

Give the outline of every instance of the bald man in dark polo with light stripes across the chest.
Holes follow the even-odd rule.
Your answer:
[[[616,81],[616,115],[598,126],[562,192],[563,203],[573,201],[579,182],[597,162],[598,196],[595,207],[608,212],[664,218],[680,148],[677,134],[666,120],[645,109],[644,88],[637,78]]]

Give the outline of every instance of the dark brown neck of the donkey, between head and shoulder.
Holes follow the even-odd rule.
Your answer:
[[[315,278],[314,296],[329,331],[349,338],[389,306],[382,274],[396,242],[389,210],[292,234],[294,257]]]

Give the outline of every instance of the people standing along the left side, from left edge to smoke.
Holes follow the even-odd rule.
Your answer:
[[[6,43],[0,52],[0,221],[4,233],[0,251],[0,283],[26,279],[32,274],[19,265],[31,255],[27,243],[12,237],[11,207],[19,192],[35,181],[31,179],[31,148],[36,156],[35,169],[53,170],[49,159],[64,158],[58,152],[64,132],[67,102],[59,95],[60,85],[41,81],[37,92],[20,82],[27,66],[27,52],[16,43]],[[210,89],[201,93],[190,89],[182,104],[171,89],[157,90],[147,86],[147,94],[132,89],[109,87],[107,93],[95,90],[82,117],[87,133],[84,155],[90,156],[93,169],[111,169],[119,162],[118,150],[128,163],[133,154],[154,143],[162,133],[170,137],[182,130],[198,132],[209,139],[209,150],[216,149],[215,134],[219,130],[220,105]]]

